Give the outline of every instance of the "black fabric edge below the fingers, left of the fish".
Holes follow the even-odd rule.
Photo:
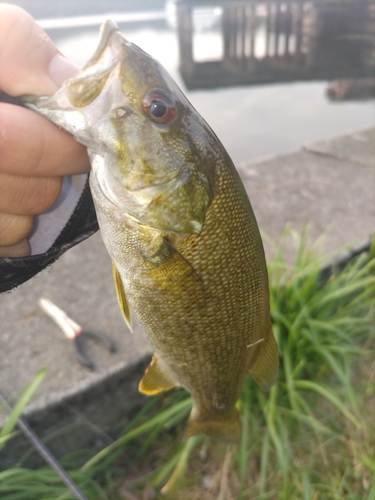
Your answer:
[[[88,184],[67,225],[47,252],[29,257],[0,258],[0,292],[7,292],[29,280],[99,229]]]

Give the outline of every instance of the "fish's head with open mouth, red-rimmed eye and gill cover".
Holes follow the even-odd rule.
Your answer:
[[[94,200],[153,228],[198,234],[222,146],[166,70],[107,21],[92,58],[27,107],[88,148]]]

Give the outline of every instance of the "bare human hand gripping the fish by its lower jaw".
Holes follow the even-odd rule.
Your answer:
[[[0,4],[0,90],[50,95],[77,67],[24,10]],[[89,171],[86,148],[47,119],[0,103],[0,257],[29,255],[36,214],[60,193],[62,176]]]

